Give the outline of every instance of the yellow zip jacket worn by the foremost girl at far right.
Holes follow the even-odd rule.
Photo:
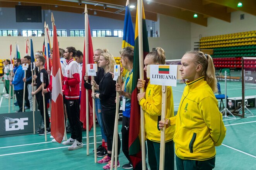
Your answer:
[[[169,121],[176,125],[175,153],[181,159],[208,160],[226,134],[222,114],[204,77],[186,84],[177,115]]]

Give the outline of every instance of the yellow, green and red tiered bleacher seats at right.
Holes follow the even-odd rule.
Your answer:
[[[202,37],[200,50],[213,50],[217,68],[241,68],[241,57],[256,56],[256,30],[233,34]],[[256,63],[244,63],[245,68],[256,68]]]

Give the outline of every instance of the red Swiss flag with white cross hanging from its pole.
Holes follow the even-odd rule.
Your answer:
[[[62,73],[56,26],[53,26],[53,70],[51,91],[51,135],[61,143],[65,130],[62,96]]]

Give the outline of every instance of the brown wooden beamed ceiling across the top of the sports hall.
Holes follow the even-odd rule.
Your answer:
[[[242,7],[237,4],[242,2]],[[83,13],[85,3],[89,15],[123,20],[126,0],[0,0],[0,7],[15,5],[41,6],[43,10]],[[143,0],[145,17],[157,21],[157,13],[207,26],[207,19],[230,22],[231,12],[240,10],[256,15],[256,0]],[[133,22],[136,17],[137,0],[130,0]],[[194,14],[198,17],[194,18]]]

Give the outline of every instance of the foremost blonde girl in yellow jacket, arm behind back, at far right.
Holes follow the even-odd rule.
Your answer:
[[[221,145],[226,128],[218,101],[217,80],[211,56],[189,51],[181,59],[181,77],[187,79],[175,117],[165,123],[174,133],[177,170],[212,170],[215,146]],[[164,122],[159,122],[162,128]],[[167,127],[166,126],[166,127]]]

